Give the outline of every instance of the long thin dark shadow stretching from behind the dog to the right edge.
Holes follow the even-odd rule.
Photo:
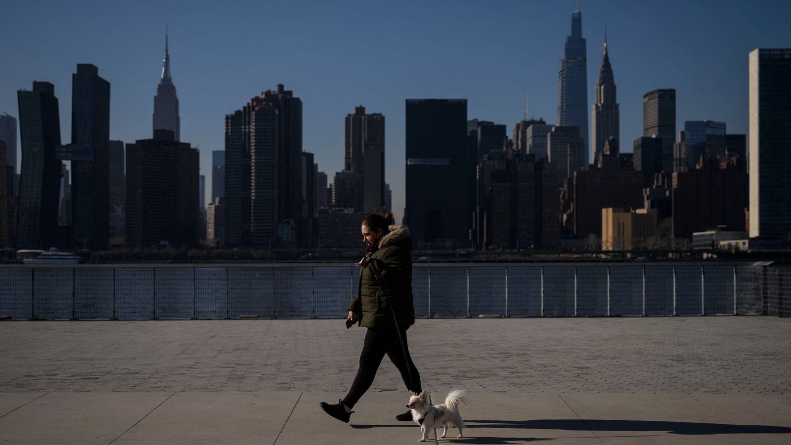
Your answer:
[[[580,424],[580,421],[583,424]],[[590,431],[666,431],[672,434],[723,434],[750,432],[789,434],[791,428],[772,425],[710,424],[701,422],[673,422],[666,420],[598,420],[598,419],[537,419],[537,420],[464,420],[467,428],[531,428]]]

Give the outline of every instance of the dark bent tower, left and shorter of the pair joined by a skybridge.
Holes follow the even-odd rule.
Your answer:
[[[54,247],[58,234],[58,199],[62,162],[60,115],[55,86],[33,82],[32,91],[17,91],[22,146],[17,248]]]

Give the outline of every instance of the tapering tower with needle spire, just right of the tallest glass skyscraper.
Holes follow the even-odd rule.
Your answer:
[[[621,139],[620,115],[617,95],[615,93],[615,77],[612,75],[610,56],[607,55],[607,29],[604,30],[604,59],[596,79],[596,103],[593,104],[591,115],[593,141],[591,143],[591,161],[598,162],[604,150],[604,144],[611,136]]]

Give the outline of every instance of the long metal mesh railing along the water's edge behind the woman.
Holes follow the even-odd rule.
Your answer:
[[[345,318],[340,264],[0,268],[0,318]],[[422,318],[789,316],[791,268],[705,264],[414,264]]]

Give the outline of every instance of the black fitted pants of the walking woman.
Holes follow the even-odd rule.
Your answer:
[[[403,340],[403,348],[401,348],[398,331],[394,327],[377,330],[368,329],[368,332],[365,333],[365,344],[363,344],[360,354],[360,367],[357,370],[357,377],[354,378],[354,383],[351,384],[349,394],[346,394],[346,398],[343,399],[344,405],[349,408],[353,407],[360,400],[362,394],[365,394],[365,391],[371,387],[384,354],[390,357],[390,361],[401,372],[401,378],[407,385],[407,390],[415,393],[421,391],[420,375],[418,375],[418,369],[414,367],[412,357],[409,355],[407,331],[401,331],[401,340]],[[406,357],[404,356],[405,354]]]

